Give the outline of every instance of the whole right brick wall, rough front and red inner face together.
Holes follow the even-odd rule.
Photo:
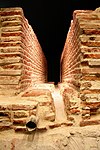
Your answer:
[[[80,102],[76,100],[80,108],[78,105],[76,108],[81,114],[80,125],[100,124],[100,8],[74,11],[61,57],[61,75],[62,82],[73,86],[78,92]],[[74,97],[70,97],[69,106],[67,104],[71,114],[75,92],[68,91],[68,88],[64,91],[68,104],[68,94]]]

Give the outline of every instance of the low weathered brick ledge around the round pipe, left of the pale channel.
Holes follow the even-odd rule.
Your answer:
[[[54,124],[55,107],[50,93],[42,90],[39,95],[0,97],[0,130],[26,132],[31,116],[38,118],[39,130]]]

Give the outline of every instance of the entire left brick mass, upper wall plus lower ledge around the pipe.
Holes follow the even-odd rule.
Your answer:
[[[0,130],[25,132],[31,117],[38,129],[54,125],[54,85],[46,82],[46,58],[22,8],[1,8]]]

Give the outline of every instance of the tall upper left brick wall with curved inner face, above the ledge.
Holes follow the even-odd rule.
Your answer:
[[[0,95],[16,95],[46,80],[46,59],[23,10],[1,8]]]

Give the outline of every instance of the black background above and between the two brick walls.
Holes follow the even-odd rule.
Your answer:
[[[95,10],[100,0],[0,0],[0,7],[22,7],[48,62],[48,81],[60,81],[60,57],[74,10]]]

